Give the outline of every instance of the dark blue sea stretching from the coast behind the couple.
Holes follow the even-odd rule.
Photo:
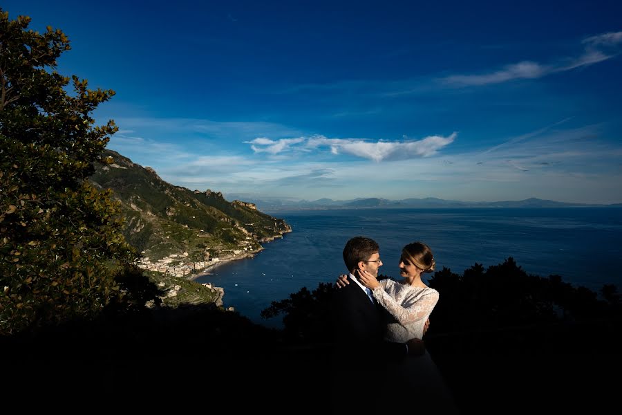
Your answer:
[[[564,282],[599,292],[614,284],[622,292],[622,208],[442,208],[263,211],[285,219],[292,232],[264,243],[255,257],[227,262],[198,275],[225,289],[225,307],[253,322],[283,326],[282,316],[264,319],[272,302],[306,287],[335,282],[346,273],[342,250],[351,237],[375,239],[380,273],[399,279],[402,247],[413,241],[433,251],[436,270],[462,274],[513,257],[531,275],[560,275]],[[433,274],[428,274],[432,276]],[[442,293],[441,293],[442,295]]]

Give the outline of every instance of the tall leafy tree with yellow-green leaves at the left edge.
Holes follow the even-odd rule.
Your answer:
[[[57,73],[68,38],[29,24],[0,9],[0,334],[131,302],[120,280],[135,260],[111,192],[86,181],[111,163],[102,152],[117,127],[91,113],[114,91]]]

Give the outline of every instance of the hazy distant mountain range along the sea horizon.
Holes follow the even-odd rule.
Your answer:
[[[308,210],[308,209],[366,209],[366,208],[574,208],[587,206],[616,207],[615,205],[597,205],[587,203],[567,203],[545,199],[530,198],[522,201],[468,202],[453,201],[428,197],[424,199],[402,199],[392,201],[381,198],[353,199],[334,201],[318,199],[317,201],[292,201],[285,199],[255,199],[257,207],[266,211],[277,210]]]

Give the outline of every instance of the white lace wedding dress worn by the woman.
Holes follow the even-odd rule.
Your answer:
[[[424,324],[438,302],[438,291],[400,284],[393,279],[383,279],[380,284],[372,293],[378,304],[390,314],[386,340],[404,343],[412,338],[423,338]],[[424,356],[408,356],[406,361],[387,363],[385,373],[386,382],[395,385],[399,391],[408,392],[403,398],[394,400],[394,409],[413,409],[413,398],[419,409],[424,406],[435,414],[458,413],[428,351]]]

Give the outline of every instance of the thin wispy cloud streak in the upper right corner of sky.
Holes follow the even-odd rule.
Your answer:
[[[450,75],[440,78],[440,82],[447,86],[482,86],[499,84],[517,79],[533,79],[555,72],[569,71],[581,66],[596,64],[619,54],[622,44],[622,32],[603,33],[588,37],[581,42],[583,53],[576,57],[558,59],[552,64],[524,61],[506,65],[496,71],[475,75]]]

